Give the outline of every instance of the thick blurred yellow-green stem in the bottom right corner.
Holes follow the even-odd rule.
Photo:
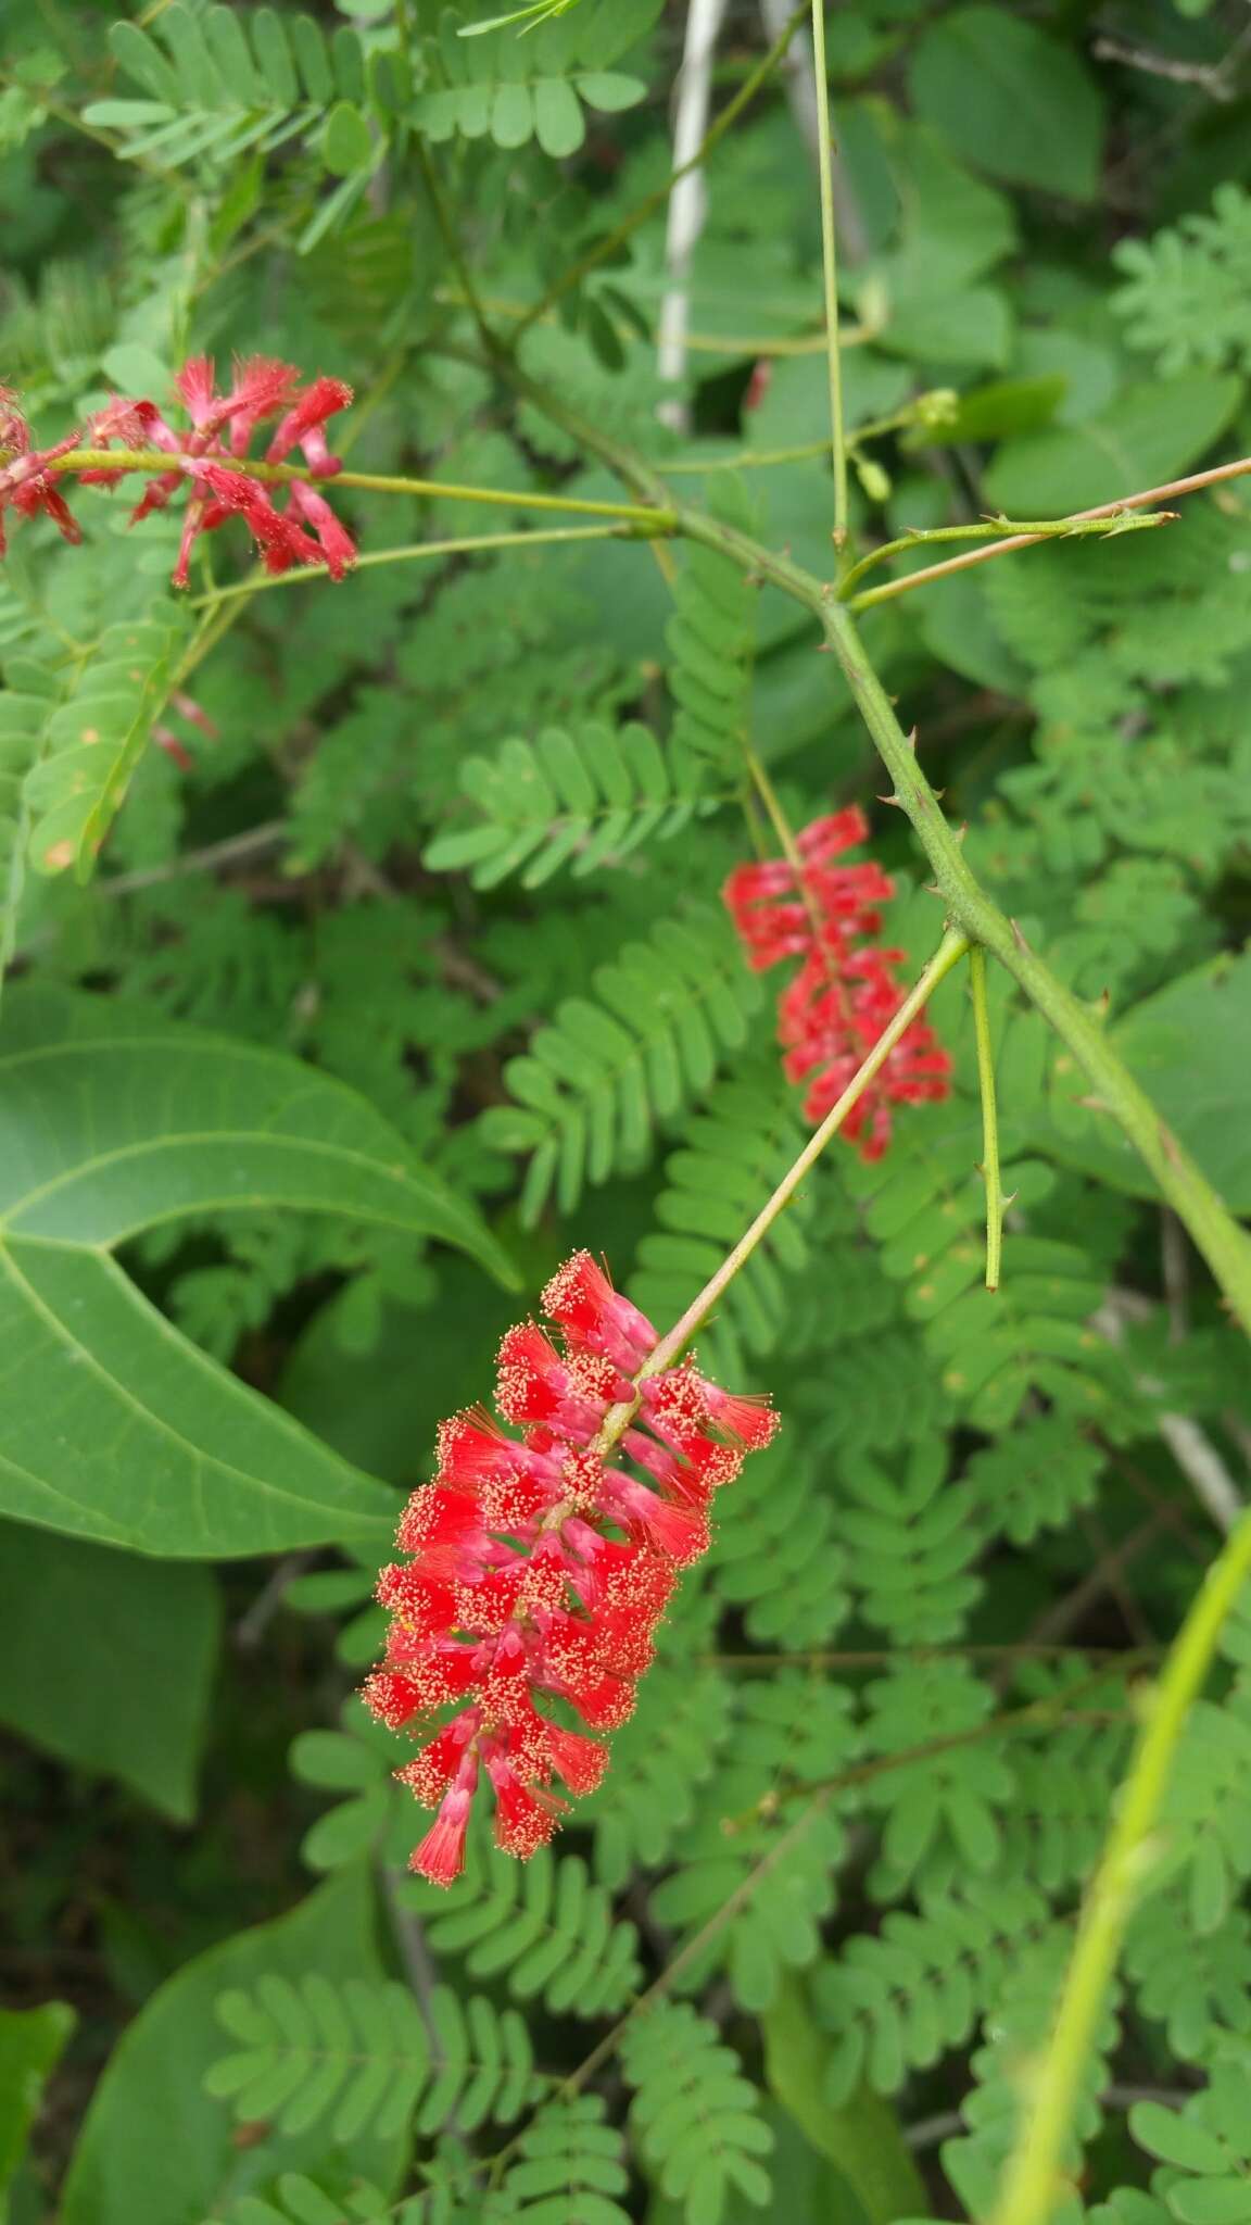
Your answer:
[[[1044,2225],[1062,2194],[1064,2140],[1124,1929],[1151,1867],[1151,1833],[1178,1744],[1211,1669],[1222,1624],[1249,1575],[1251,1515],[1211,1564],[1151,1698],[1117,1820],[1086,1893],[1051,2045],[1031,2078],[1031,2112],[1008,2158],[991,2225]]]

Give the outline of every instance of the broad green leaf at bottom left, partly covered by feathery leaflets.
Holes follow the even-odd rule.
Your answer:
[[[205,2071],[223,2051],[216,2000],[227,1987],[254,1987],[274,1971],[305,1978],[381,1980],[374,1896],[361,1867],[341,1871],[278,1922],[240,1931],[196,1956],[145,2005],[114,2049],[96,2087],[65,2185],[60,2225],[189,2225],[223,2216],[278,2172],[334,2172],[394,2192],[405,2140],[361,2136],[334,2145],[329,2127],[276,2134],[252,2127],[247,2140]]]

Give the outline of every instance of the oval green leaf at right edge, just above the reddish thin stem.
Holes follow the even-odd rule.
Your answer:
[[[1242,380],[1209,372],[1124,387],[1100,416],[1002,447],[982,481],[986,503],[1015,518],[1064,518],[1186,472],[1224,432]]]

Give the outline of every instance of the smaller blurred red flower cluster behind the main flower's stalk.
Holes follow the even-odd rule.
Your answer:
[[[895,883],[873,859],[835,863],[866,837],[857,805],[815,819],[797,837],[797,868],[781,857],[735,866],[721,892],[755,972],[801,961],[777,1006],[777,1039],[788,1081],[808,1084],[804,1117],[812,1126],[839,1101],[904,1003],[893,972],[904,952],[873,939]],[[915,1019],[841,1133],[866,1159],[879,1159],[890,1144],[890,1108],[946,1097],[948,1086],[950,1057],[928,1021]]]

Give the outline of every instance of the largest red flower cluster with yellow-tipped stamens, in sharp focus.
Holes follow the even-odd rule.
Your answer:
[[[521,1435],[483,1408],[443,1422],[436,1475],[398,1526],[412,1560],[378,1580],[392,1626],[365,1700],[396,1731],[454,1707],[396,1771],[439,1809],[412,1856],[434,1885],[461,1871],[483,1773],[496,1845],[523,1860],[568,1807],[554,1778],[594,1791],[608,1749],[585,1731],[630,1715],[679,1569],[708,1551],[712,1493],[777,1426],[768,1404],[690,1362],[639,1380],[657,1331],[585,1250],[543,1311],[561,1346],[521,1322],[499,1348],[494,1402]],[[630,1466],[608,1460],[612,1408],[626,1408],[614,1442]]]

